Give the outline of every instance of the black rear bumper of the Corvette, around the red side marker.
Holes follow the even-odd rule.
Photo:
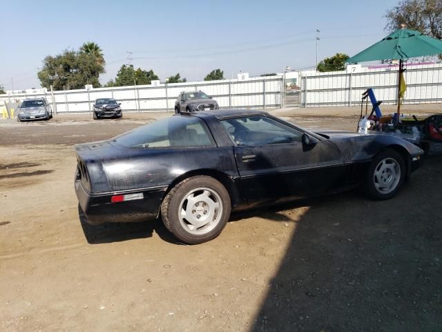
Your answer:
[[[75,192],[79,205],[86,215],[86,221],[91,225],[156,219],[166,189],[167,187],[155,187],[126,190],[124,192],[90,194],[81,185],[81,181],[75,181]],[[133,193],[142,193],[143,199],[111,203],[112,196]]]

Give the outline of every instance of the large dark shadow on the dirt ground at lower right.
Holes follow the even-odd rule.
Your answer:
[[[442,331],[441,164],[389,201],[310,202],[251,331]]]

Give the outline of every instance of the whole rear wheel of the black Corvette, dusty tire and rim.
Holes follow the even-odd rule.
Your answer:
[[[188,244],[204,243],[218,237],[230,212],[229,192],[210,176],[186,178],[172,188],[161,205],[166,228]]]

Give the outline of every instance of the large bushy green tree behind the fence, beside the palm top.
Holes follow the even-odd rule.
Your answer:
[[[99,84],[99,74],[104,73],[104,60],[96,55],[75,50],[64,50],[59,55],[48,55],[43,68],[37,73],[40,84],[46,89],[84,89],[86,84],[95,87]]]

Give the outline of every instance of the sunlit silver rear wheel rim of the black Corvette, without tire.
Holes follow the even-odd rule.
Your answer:
[[[184,196],[178,210],[180,225],[186,232],[202,235],[211,232],[222,216],[222,201],[215,190],[199,187]]]

